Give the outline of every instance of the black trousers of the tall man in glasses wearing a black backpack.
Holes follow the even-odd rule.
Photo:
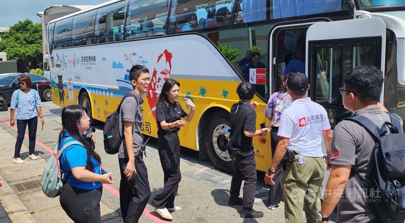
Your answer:
[[[128,158],[118,158],[121,181],[119,182],[119,204],[124,222],[138,222],[150,197],[148,170],[143,162],[143,153],[135,156],[137,174],[132,180],[124,175],[123,165]]]

